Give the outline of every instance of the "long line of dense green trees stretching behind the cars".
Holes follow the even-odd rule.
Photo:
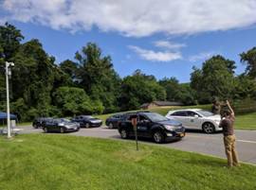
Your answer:
[[[168,100],[185,105],[206,104],[212,98],[256,99],[256,47],[240,54],[247,65],[235,75],[235,62],[213,56],[202,68],[193,67],[191,82],[157,80],[140,70],[120,78],[110,56],[96,43],[87,43],[74,60],[56,62],[42,43],[24,36],[15,26],[0,26],[0,110],[6,110],[5,61],[11,69],[10,111],[21,120],[36,116],[72,116],[136,110],[146,102]]]

